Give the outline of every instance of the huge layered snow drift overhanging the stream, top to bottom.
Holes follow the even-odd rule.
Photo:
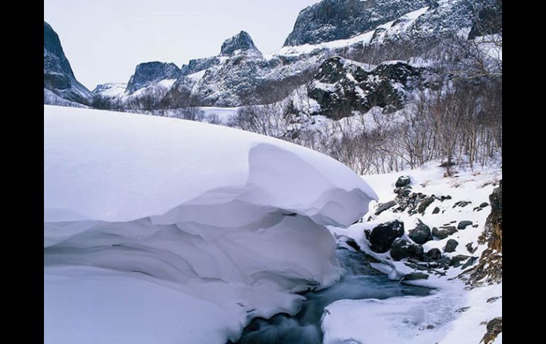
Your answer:
[[[377,199],[282,140],[44,106],[45,343],[225,343],[340,275],[325,226]]]

